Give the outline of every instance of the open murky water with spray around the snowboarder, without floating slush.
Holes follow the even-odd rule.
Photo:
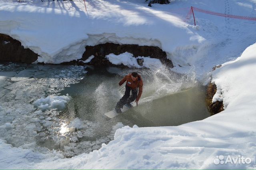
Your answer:
[[[124,85],[120,87],[118,82],[133,71],[138,72],[144,82],[139,105],[110,120],[104,113],[114,109],[125,91]],[[180,76],[165,68],[88,70],[80,83],[62,91],[62,95],[65,94],[72,96],[72,101],[63,116],[97,121],[102,125],[122,122],[139,127],[177,126],[210,116],[205,104],[204,87],[193,78]]]

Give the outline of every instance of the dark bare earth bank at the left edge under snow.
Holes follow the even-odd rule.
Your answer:
[[[36,61],[38,54],[28,48],[24,48],[18,40],[10,36],[0,34],[0,62],[32,63]]]

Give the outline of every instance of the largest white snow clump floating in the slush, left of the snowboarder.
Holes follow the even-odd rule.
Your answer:
[[[36,108],[39,108],[43,112],[50,109],[62,110],[65,108],[65,104],[70,101],[70,96],[48,96],[46,98],[40,98],[33,102]]]

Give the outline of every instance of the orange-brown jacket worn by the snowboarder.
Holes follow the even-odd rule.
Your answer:
[[[142,82],[142,78],[140,75],[138,75],[138,79],[136,81],[132,81],[132,74],[128,74],[126,76],[124,76],[124,78],[119,82],[119,85],[121,86],[122,84],[124,84],[124,82],[126,81],[126,85],[132,89],[136,89],[139,88],[139,92],[137,95],[136,100],[139,101],[140,100],[140,96],[142,94],[142,86],[143,86],[143,82]]]

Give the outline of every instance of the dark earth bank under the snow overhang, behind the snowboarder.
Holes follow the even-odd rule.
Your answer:
[[[92,64],[94,66],[112,65],[105,56],[111,53],[119,55],[124,52],[132,53],[135,58],[138,56],[150,56],[151,58],[157,58],[162,62],[162,64],[173,67],[172,61],[168,60],[166,57],[166,52],[162,51],[160,48],[155,46],[138,46],[135,44],[120,45],[106,43],[98,44],[96,46],[86,46],[86,51],[82,56],[82,60],[86,60],[90,56],[94,55],[95,57],[88,64]]]

